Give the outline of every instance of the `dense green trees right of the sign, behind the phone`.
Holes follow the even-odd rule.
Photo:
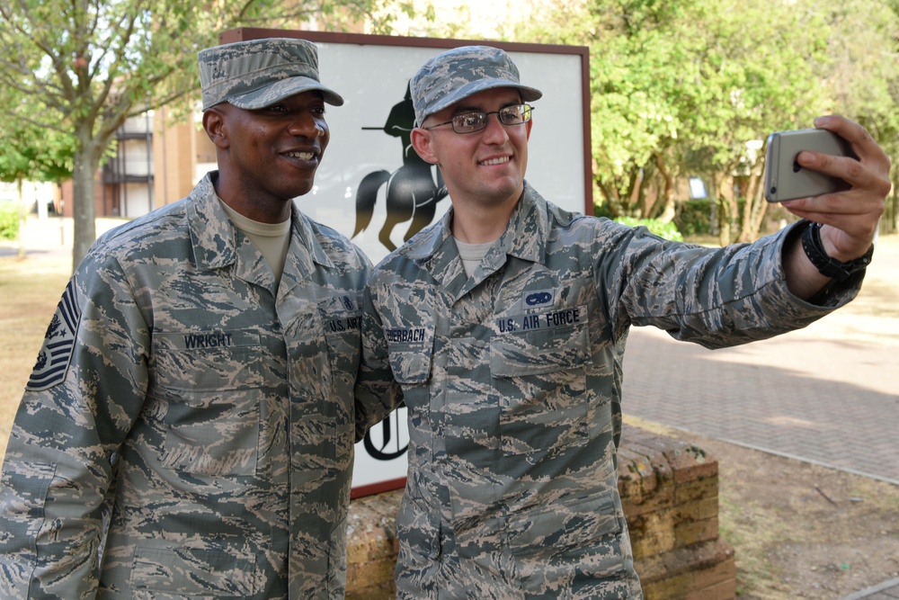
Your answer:
[[[590,48],[593,175],[605,212],[670,221],[679,182],[700,175],[730,243],[761,228],[771,131],[841,112],[899,156],[897,5],[563,0],[519,39]]]

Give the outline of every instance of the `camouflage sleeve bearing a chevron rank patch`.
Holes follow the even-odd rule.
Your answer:
[[[47,330],[0,485],[0,596],[93,598],[116,451],[147,390],[148,327],[94,246]]]

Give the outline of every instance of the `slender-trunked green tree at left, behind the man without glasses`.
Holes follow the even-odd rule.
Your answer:
[[[274,23],[298,29],[310,20],[339,29],[383,12],[385,2],[0,0],[0,86],[17,96],[0,106],[0,117],[72,140],[73,266],[96,236],[93,180],[115,131],[129,116],[194,93],[197,52],[216,44],[219,32]]]

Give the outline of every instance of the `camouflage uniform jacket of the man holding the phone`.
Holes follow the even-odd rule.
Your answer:
[[[641,597],[617,486],[628,327],[742,344],[806,326],[859,278],[816,307],[787,289],[787,232],[673,244],[528,185],[469,278],[450,219],[378,264],[363,308],[360,427],[390,409],[391,376],[409,411],[398,597]]]

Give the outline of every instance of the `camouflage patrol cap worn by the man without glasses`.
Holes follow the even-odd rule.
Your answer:
[[[318,79],[318,50],[307,40],[268,38],[200,50],[203,110],[220,103],[254,110],[317,90],[325,102],[343,98]]]

